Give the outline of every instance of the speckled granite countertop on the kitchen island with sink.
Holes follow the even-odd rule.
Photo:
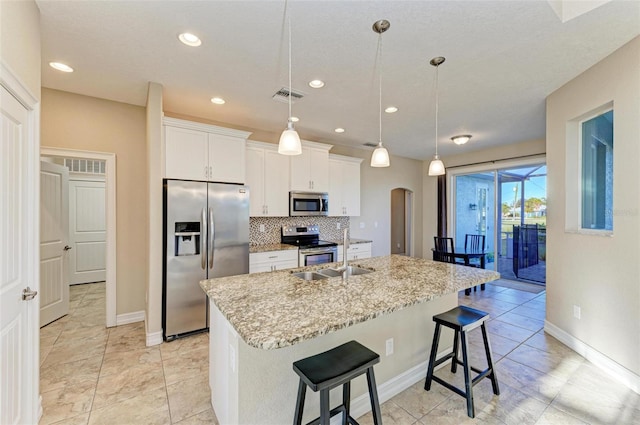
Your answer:
[[[271,350],[500,278],[492,270],[400,255],[351,261],[375,271],[345,281],[292,275],[340,264],[209,279],[200,286],[248,345]]]

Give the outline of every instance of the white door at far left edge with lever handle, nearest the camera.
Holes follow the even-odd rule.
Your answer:
[[[2,74],[8,77],[4,67]],[[0,423],[37,423],[38,122],[37,114],[28,112],[5,89],[4,78],[0,87]]]

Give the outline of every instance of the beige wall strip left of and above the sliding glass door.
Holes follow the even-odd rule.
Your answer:
[[[464,165],[476,164],[479,162],[496,161],[496,167],[500,167],[500,161],[510,158],[526,157],[529,155],[544,155],[544,140],[528,140],[520,143],[513,143],[506,146],[493,147],[461,153],[458,155],[450,155],[443,157],[445,167],[459,167]],[[463,148],[464,149],[464,148]],[[438,186],[437,177],[428,175],[429,162],[424,161],[423,164],[423,197],[424,197],[424,234],[423,247],[425,258],[431,258],[431,248],[433,247],[433,237],[438,234]],[[449,182],[447,182],[449,184]],[[447,200],[449,202],[449,200]],[[452,234],[449,226],[448,234]]]

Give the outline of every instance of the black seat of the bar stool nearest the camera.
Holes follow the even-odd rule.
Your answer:
[[[380,361],[380,356],[364,345],[349,341],[324,353],[293,363],[293,370],[312,389],[345,374],[362,371]]]

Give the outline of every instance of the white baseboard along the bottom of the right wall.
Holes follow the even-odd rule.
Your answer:
[[[546,320],[544,331],[589,360],[613,379],[640,394],[640,376]]]

